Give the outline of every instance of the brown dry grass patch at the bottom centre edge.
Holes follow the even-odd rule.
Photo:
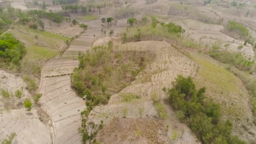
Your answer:
[[[109,125],[99,131],[97,140],[107,144],[147,143],[166,144],[164,125],[156,118],[115,118]]]

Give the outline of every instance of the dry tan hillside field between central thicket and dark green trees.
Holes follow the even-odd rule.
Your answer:
[[[196,138],[186,125],[179,123],[169,104],[165,104],[163,87],[171,88],[171,81],[179,74],[194,76],[197,69],[194,61],[184,56],[165,41],[141,41],[120,45],[116,51],[153,51],[156,60],[147,65],[131,85],[111,96],[107,105],[101,105],[91,111],[87,123],[100,124],[104,121],[103,130],[99,131],[96,139],[103,143],[175,143],[195,144]],[[123,102],[125,93],[133,93],[140,99]],[[161,99],[161,105],[167,115],[162,120],[151,100],[152,94]],[[139,114],[139,109],[144,111]],[[128,109],[123,118],[123,109]],[[181,130],[185,129],[182,136]],[[138,134],[139,133],[139,134]],[[173,133],[178,136],[171,139]]]

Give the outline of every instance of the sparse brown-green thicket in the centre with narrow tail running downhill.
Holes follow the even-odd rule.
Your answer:
[[[86,120],[91,109],[98,104],[107,104],[111,95],[129,85],[155,57],[143,51],[112,51],[112,46],[112,41],[109,41],[108,47],[97,46],[86,54],[80,53],[79,68],[71,75],[72,88],[86,99],[87,107],[81,112],[83,144],[93,140],[95,135],[86,130]]]

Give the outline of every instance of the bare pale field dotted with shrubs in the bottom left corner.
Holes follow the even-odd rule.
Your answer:
[[[16,90],[23,89],[23,96],[20,100],[13,96]],[[21,101],[25,98],[32,99],[26,89],[24,81],[15,75],[0,71],[0,89],[5,89],[11,96],[9,99],[0,95],[0,142],[6,139],[6,135],[15,132],[17,134],[15,143],[18,144],[51,144],[51,128],[47,128],[40,121],[37,109],[32,107],[27,112]],[[49,121],[48,124],[51,122]]]

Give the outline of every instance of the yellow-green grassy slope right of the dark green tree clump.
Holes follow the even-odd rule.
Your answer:
[[[199,64],[199,70],[195,77],[195,83],[198,87],[205,87],[208,96],[213,98],[223,110],[224,115],[230,119],[245,119],[244,111],[246,110],[237,100],[246,101],[247,91],[243,87],[243,83],[227,69],[219,67],[216,61],[195,53],[191,56]],[[234,99],[234,97],[236,97]]]

